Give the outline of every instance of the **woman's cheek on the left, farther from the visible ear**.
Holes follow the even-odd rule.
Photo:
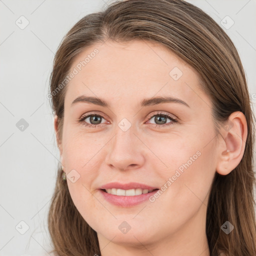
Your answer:
[[[84,134],[71,127],[67,127],[63,133],[63,158],[67,175],[70,172],[75,176],[75,182],[67,179],[68,190],[77,210],[84,219],[90,221],[93,221],[91,216],[100,208],[93,195],[94,181],[102,163],[98,160],[103,157],[103,150],[100,149],[107,142],[107,139],[95,138],[92,133]]]

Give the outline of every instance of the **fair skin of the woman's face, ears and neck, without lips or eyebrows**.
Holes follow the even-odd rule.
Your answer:
[[[200,89],[198,73],[160,44],[94,44],[76,56],[70,70],[95,48],[99,52],[66,85],[62,137],[56,116],[54,128],[63,170],[68,175],[75,169],[80,175],[74,183],[67,178],[70,195],[97,232],[101,255],[208,256],[205,219],[210,185],[215,171],[226,175],[241,160],[247,135],[244,115],[232,113],[231,129],[220,126],[216,133],[212,102]],[[183,73],[178,80],[169,75],[174,67]],[[71,106],[80,95],[102,98],[109,106]],[[140,106],[144,98],[156,96],[176,97],[189,107],[175,102]],[[78,121],[93,111],[105,116],[96,127]],[[170,125],[155,127],[160,122],[149,114],[159,111],[178,121],[170,124],[166,117],[163,123]],[[118,126],[123,118],[131,124],[127,131]],[[91,124],[89,118],[83,122]],[[197,151],[200,156],[153,202],[120,207],[104,200],[98,190],[112,181],[161,188]],[[127,233],[118,228],[123,221],[131,227]]]

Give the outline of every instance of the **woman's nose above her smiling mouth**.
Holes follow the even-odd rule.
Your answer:
[[[116,133],[108,142],[106,149],[105,161],[112,169],[139,168],[144,163],[145,146],[133,133],[131,127],[126,131],[117,127]]]

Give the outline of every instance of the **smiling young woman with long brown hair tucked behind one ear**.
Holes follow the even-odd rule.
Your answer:
[[[56,255],[256,255],[243,67],[181,0],[116,1],[63,38],[50,80]]]

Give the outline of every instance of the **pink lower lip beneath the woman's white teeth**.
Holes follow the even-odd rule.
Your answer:
[[[99,189],[100,193],[108,202],[121,207],[130,207],[130,206],[137,205],[143,201],[146,201],[150,196],[152,196],[158,190],[159,189],[153,190],[150,193],[140,194],[140,195],[114,195],[114,194],[109,194],[102,189]]]

